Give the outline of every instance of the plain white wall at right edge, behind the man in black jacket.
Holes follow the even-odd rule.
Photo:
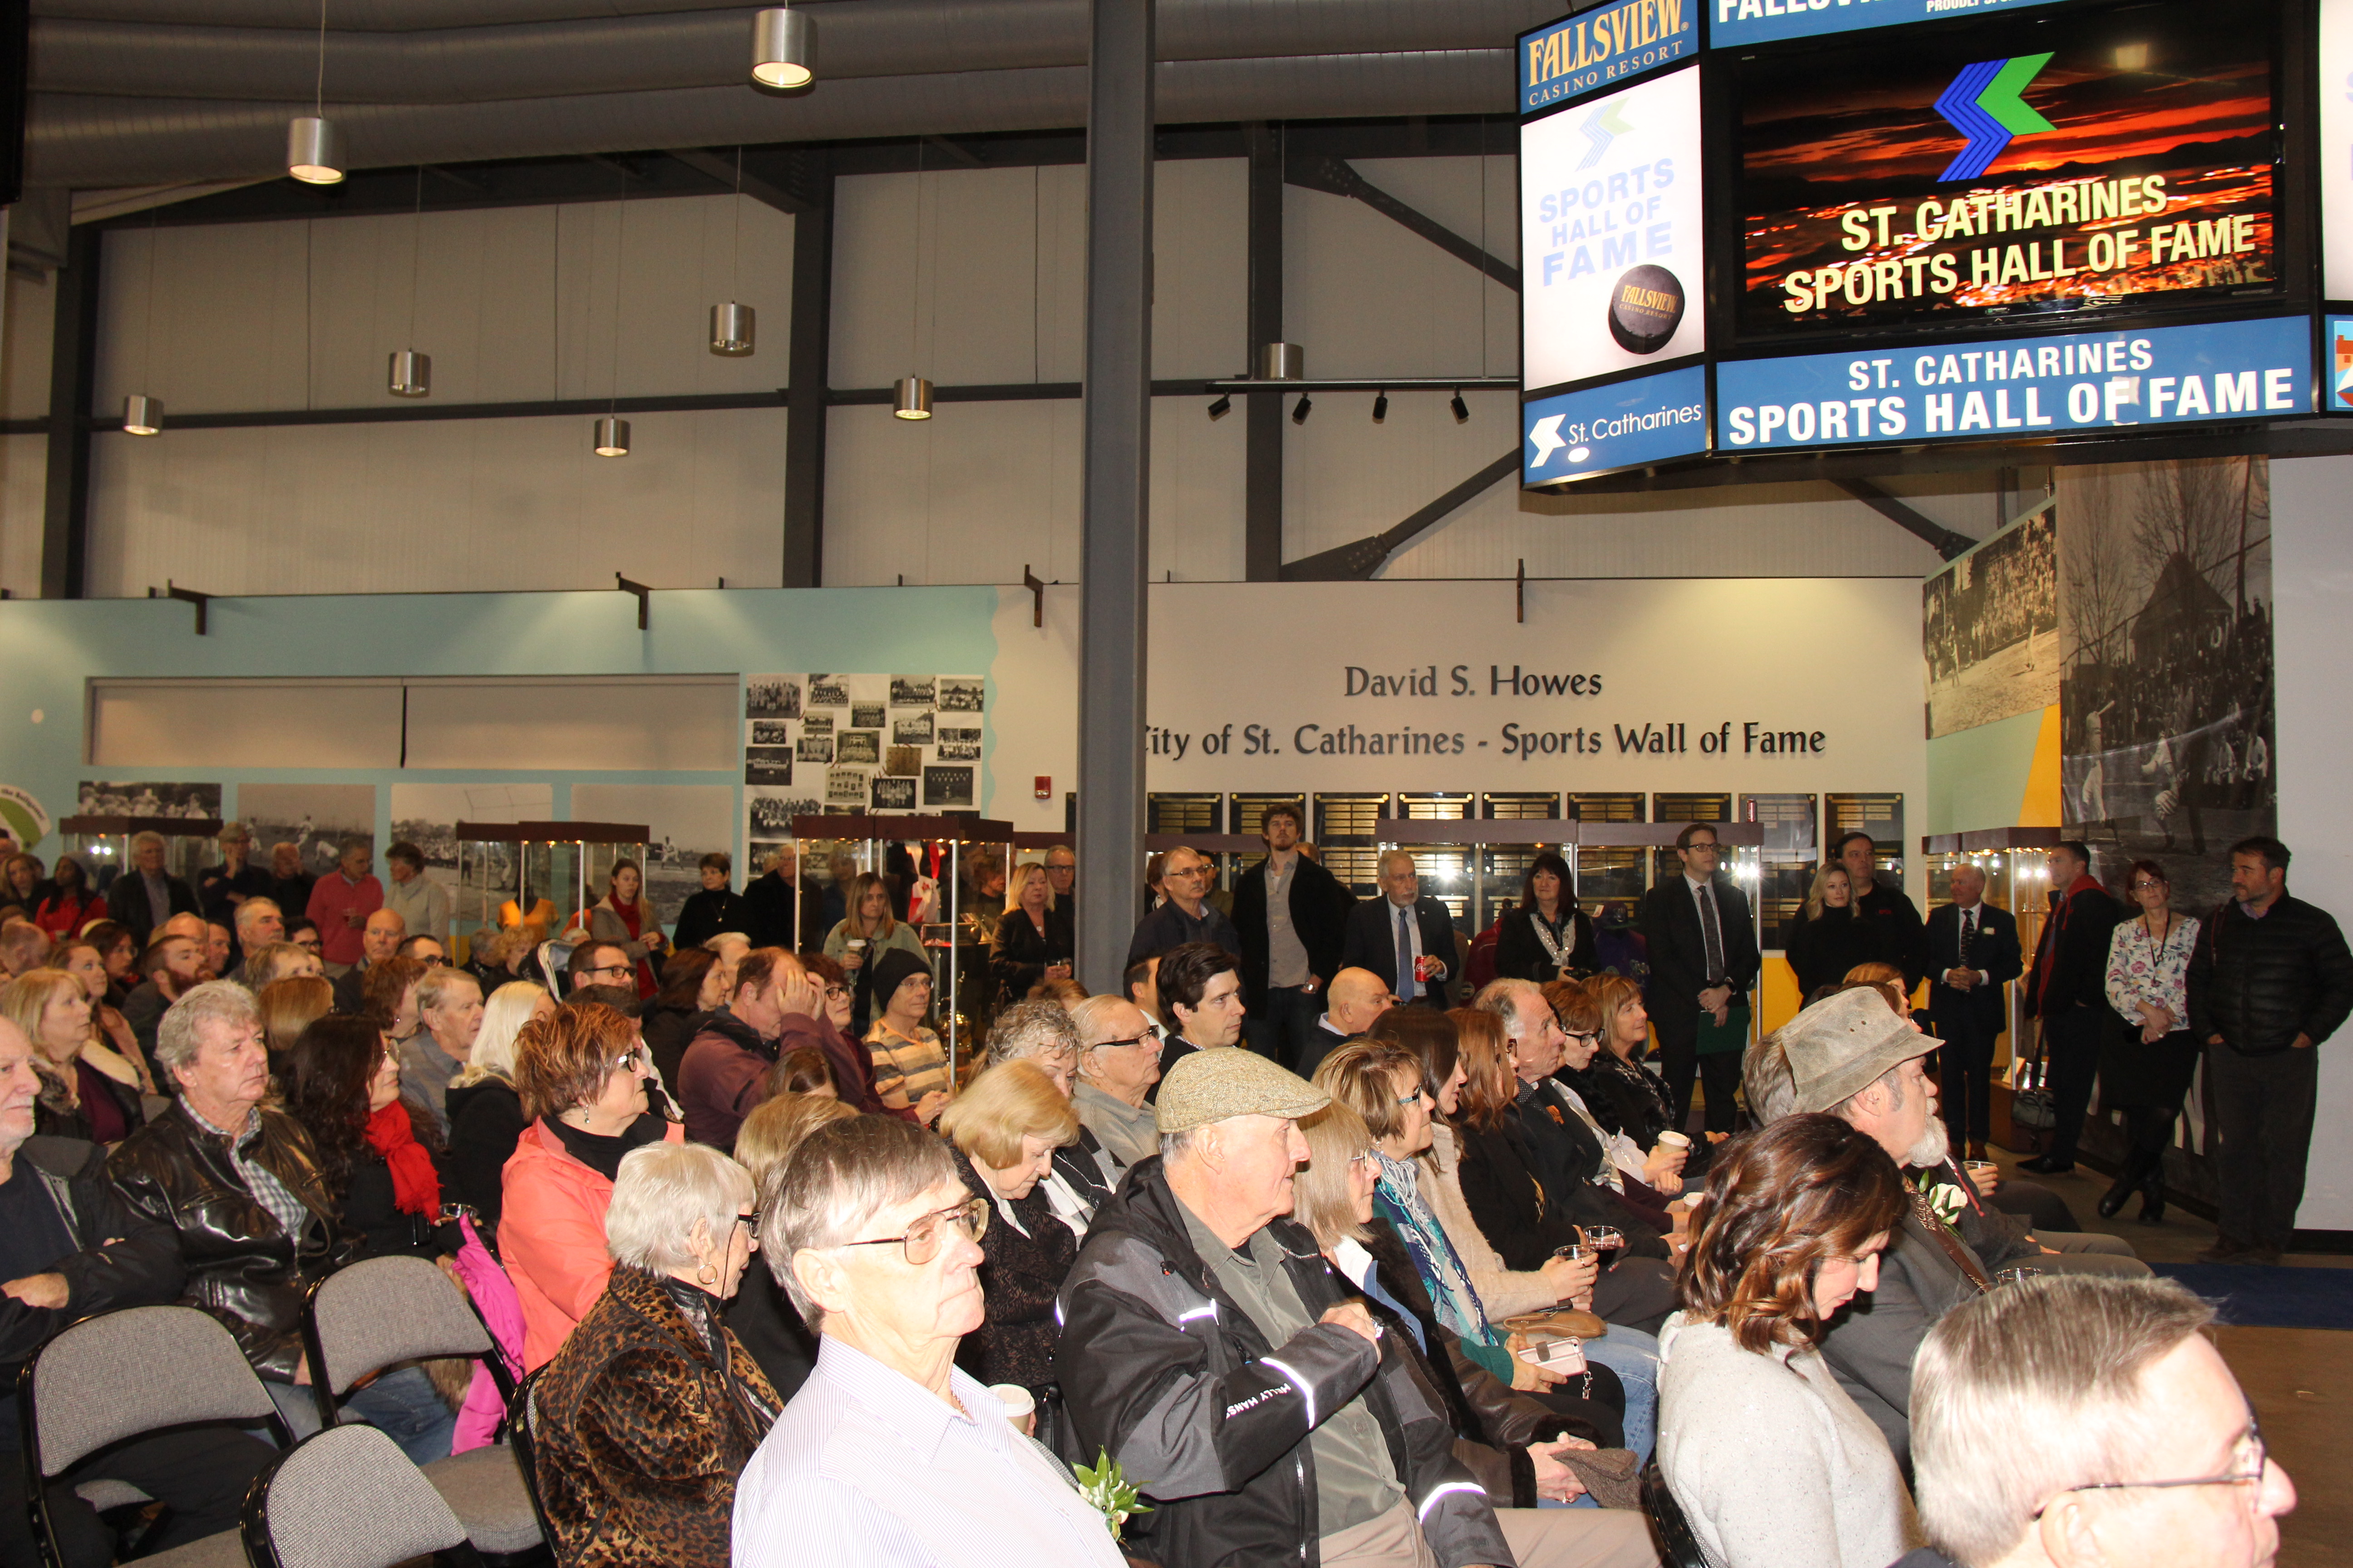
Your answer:
[[[2346,778],[2353,726],[2344,679],[2353,668],[2353,534],[2344,496],[2353,458],[2294,458],[2271,465],[2271,592],[2278,682],[2280,842],[2294,851],[2287,886],[2353,926],[2353,842],[2346,839]],[[2353,1229],[2353,1030],[2320,1046],[2320,1114],[2306,1166],[2304,1229]]]

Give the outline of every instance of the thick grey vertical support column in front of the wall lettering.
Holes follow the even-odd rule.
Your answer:
[[[1120,990],[1144,882],[1153,0],[1092,0],[1078,639],[1078,976]]]

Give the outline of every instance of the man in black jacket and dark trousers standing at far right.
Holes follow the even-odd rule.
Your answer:
[[[2200,1262],[2278,1262],[2304,1204],[2320,1041],[2353,1013],[2353,954],[2327,910],[2287,896],[2287,846],[2231,846],[2231,903],[2198,931],[2191,1030],[2221,1131],[2221,1237]]]

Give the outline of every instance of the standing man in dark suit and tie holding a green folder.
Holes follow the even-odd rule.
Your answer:
[[[1649,1023],[1659,1030],[1659,1063],[1675,1107],[1675,1128],[1692,1117],[1692,1077],[1706,1074],[1708,1131],[1729,1133],[1741,1053],[1699,1053],[1699,1025],[1732,1023],[1748,1006],[1758,978],[1758,929],[1748,896],[1715,870],[1715,830],[1692,823],[1675,835],[1682,875],[1642,896],[1635,926],[1649,952]]]

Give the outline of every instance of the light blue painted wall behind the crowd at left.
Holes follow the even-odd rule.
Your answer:
[[[551,783],[569,816],[574,783],[692,783],[736,790],[741,771],[496,769],[115,769],[82,764],[92,677],[353,677],[353,675],[991,675],[995,715],[995,588],[699,588],[656,592],[649,630],[624,592],[487,592],[214,599],[209,630],[172,599],[0,602],[0,783],[31,790],[66,818],[82,778],[219,778],[238,783],[372,783],[376,844],[388,844],[393,783]],[[40,722],[33,715],[40,715]],[[741,708],[739,708],[741,712]],[[984,741],[993,741],[993,724]],[[984,745],[986,752],[986,745]],[[529,759],[518,759],[527,764]],[[993,780],[981,773],[979,806]],[[42,853],[54,853],[52,835]],[[741,849],[741,837],[739,837]]]

